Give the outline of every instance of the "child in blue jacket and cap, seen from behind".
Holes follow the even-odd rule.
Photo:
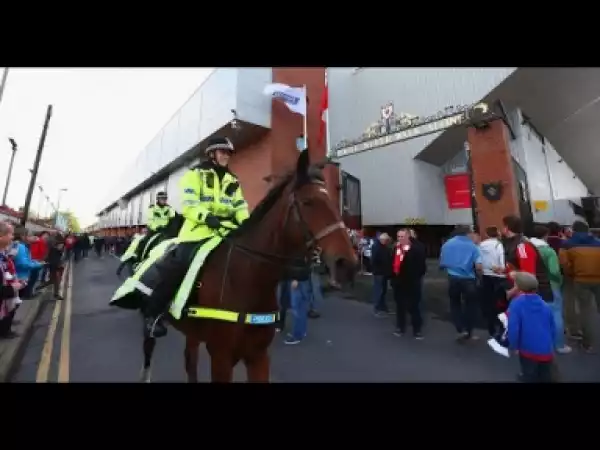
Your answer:
[[[508,307],[508,348],[519,354],[521,379],[526,383],[550,383],[554,360],[554,315],[537,294],[538,281],[527,272],[515,274],[520,293]]]

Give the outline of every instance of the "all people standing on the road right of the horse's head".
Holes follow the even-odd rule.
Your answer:
[[[396,238],[393,242],[387,233],[358,237],[357,252],[363,273],[372,274],[375,316],[395,315],[394,335],[410,328],[422,340],[426,251],[412,229],[399,230]],[[474,330],[485,324],[491,347],[518,354],[520,380],[556,380],[555,355],[571,353],[573,343],[595,353],[600,239],[585,222],[538,224],[525,236],[522,221],[507,216],[501,229],[487,228],[484,239],[470,227],[457,226],[442,245],[439,266],[448,278],[457,341],[480,339]],[[386,303],[389,287],[395,311]]]

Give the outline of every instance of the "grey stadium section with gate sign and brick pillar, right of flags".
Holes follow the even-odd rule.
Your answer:
[[[598,69],[334,69],[330,143],[368,228],[594,221],[598,100]]]

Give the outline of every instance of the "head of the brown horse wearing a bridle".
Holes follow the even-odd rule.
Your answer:
[[[291,180],[287,233],[308,250],[319,247],[332,274],[349,274],[358,260],[346,227],[325,187],[322,169],[327,162],[311,165],[308,150],[300,153]],[[344,270],[340,270],[344,269]]]

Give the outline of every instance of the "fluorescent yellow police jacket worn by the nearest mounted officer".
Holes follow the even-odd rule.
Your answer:
[[[250,216],[237,177],[229,170],[220,172],[222,177],[213,163],[204,162],[181,178],[181,212],[185,222],[179,232],[180,241],[200,241],[212,236],[214,231],[205,225],[208,214],[222,220],[235,220],[238,224]]]

